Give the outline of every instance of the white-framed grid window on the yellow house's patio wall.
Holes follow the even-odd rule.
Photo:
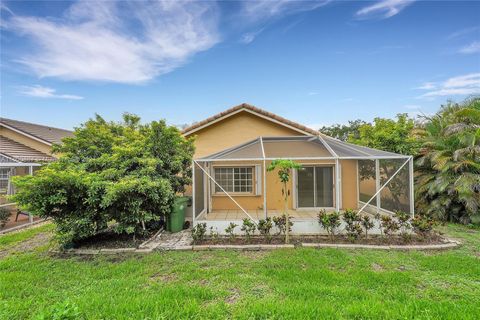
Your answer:
[[[217,167],[215,180],[227,192],[253,192],[252,167]],[[222,189],[215,184],[215,192],[222,193]]]

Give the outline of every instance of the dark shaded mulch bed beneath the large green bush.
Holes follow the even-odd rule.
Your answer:
[[[73,244],[75,249],[119,249],[119,248],[138,248],[140,244],[153,236],[154,232],[147,235],[135,237],[128,234],[117,234],[112,231],[106,231],[93,237],[76,241]]]

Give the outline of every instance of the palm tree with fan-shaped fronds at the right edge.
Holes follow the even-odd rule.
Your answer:
[[[417,209],[440,220],[480,222],[480,97],[448,102],[419,130]]]

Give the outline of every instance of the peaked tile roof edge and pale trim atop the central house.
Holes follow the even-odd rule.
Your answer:
[[[271,113],[271,112],[268,112],[268,111],[265,111],[263,109],[260,109],[260,108],[257,108],[255,106],[252,106],[250,104],[247,104],[247,103],[242,103],[238,106],[235,106],[233,108],[230,108],[230,109],[227,109],[223,112],[220,112],[210,118],[207,118],[205,120],[202,120],[200,122],[197,122],[197,123],[194,123],[193,125],[185,128],[182,130],[182,133],[184,135],[189,135],[189,134],[192,134],[198,130],[201,130],[205,127],[208,127],[218,121],[221,121],[225,118],[228,118],[228,117],[231,117],[239,112],[242,112],[242,111],[246,111],[246,112],[249,112],[249,113],[252,113],[254,115],[257,115],[261,118],[264,118],[264,119],[267,119],[269,121],[272,121],[272,122],[275,122],[277,124],[280,124],[280,125],[283,125],[285,127],[288,127],[288,128],[291,128],[295,131],[298,131],[302,134],[306,134],[306,135],[318,135],[318,131],[316,130],[313,130],[313,129],[310,129],[304,125],[301,125],[299,123],[296,123],[296,122],[293,122],[293,121],[290,121],[288,119],[285,119],[283,117],[280,117],[274,113]]]

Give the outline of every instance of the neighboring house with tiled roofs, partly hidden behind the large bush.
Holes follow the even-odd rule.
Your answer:
[[[34,174],[43,163],[55,161],[52,145],[71,135],[64,129],[0,118],[0,205],[8,206],[6,196],[14,193],[12,176]]]

